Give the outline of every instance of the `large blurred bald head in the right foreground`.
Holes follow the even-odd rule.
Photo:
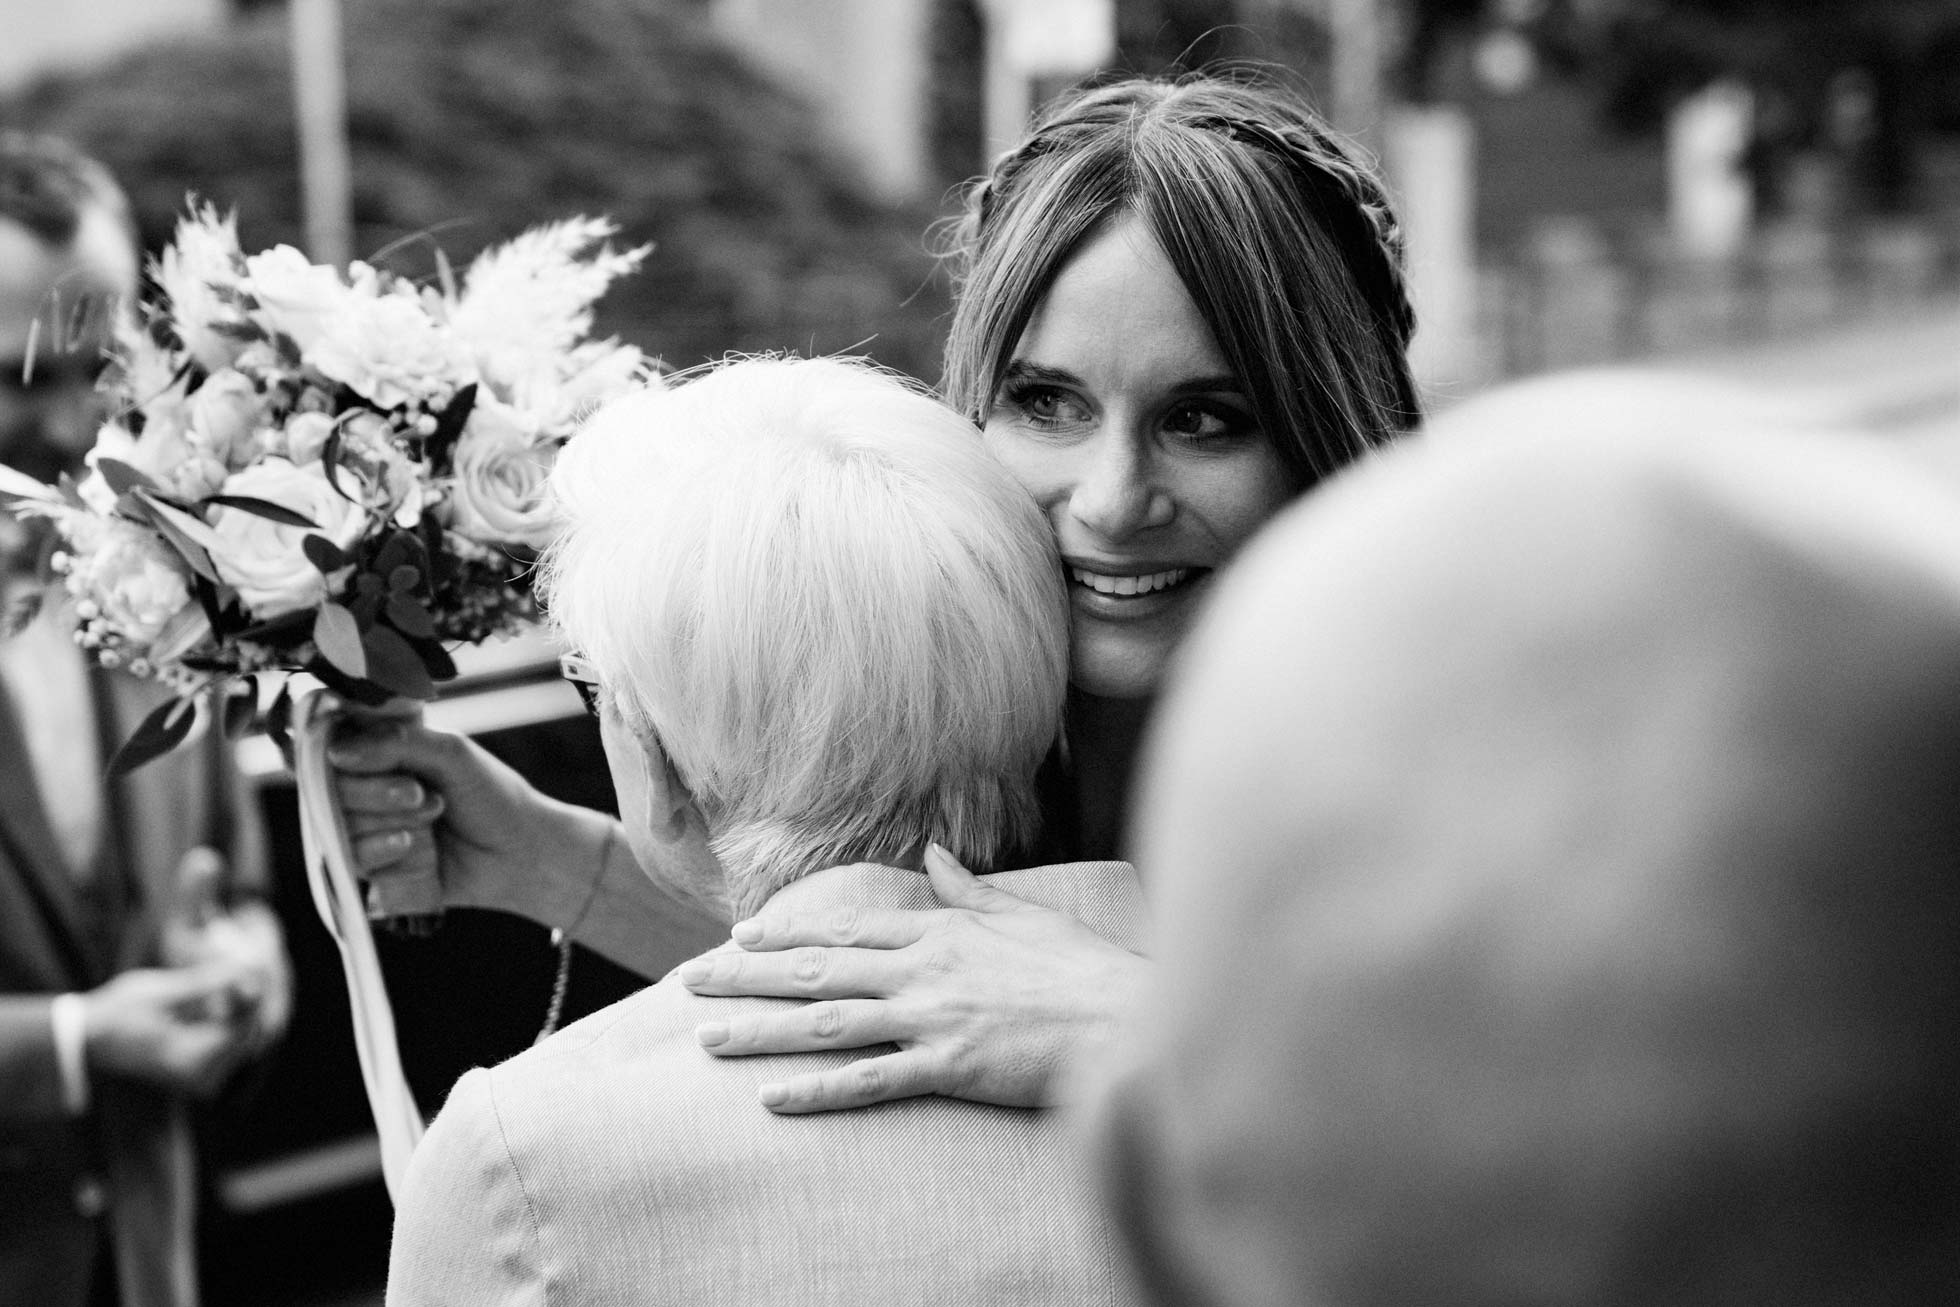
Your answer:
[[[1960,502],[1666,378],[1335,484],[1194,635],[1100,1105],[1166,1303],[1960,1301]]]

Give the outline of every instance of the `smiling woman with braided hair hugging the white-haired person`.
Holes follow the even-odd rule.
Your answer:
[[[1417,419],[1413,314],[1384,192],[1282,90],[1223,76],[1072,92],[968,192],[945,394],[1041,502],[1070,596],[1066,737],[1025,858],[1121,854],[1158,678],[1211,576],[1274,511]],[[517,911],[659,976],[676,913],[617,825],[543,799],[461,737],[388,725],[335,754],[363,862],[441,868],[459,905]],[[682,978],[823,999],[704,1031],[715,1054],[898,1044],[766,1082],[774,1111],[915,1093],[1053,1103],[1143,958],[974,878],[941,911],[849,931],[764,909]],[[698,917],[692,929],[704,927]]]

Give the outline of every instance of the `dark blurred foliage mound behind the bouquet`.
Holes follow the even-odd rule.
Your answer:
[[[647,270],[602,329],[672,366],[731,349],[858,347],[939,374],[947,292],[925,210],[870,202],[811,114],[672,0],[347,0],[355,249],[461,266],[535,221],[608,214]],[[247,249],[300,243],[278,10],[0,102],[129,188],[161,247],[184,196],[237,208]]]

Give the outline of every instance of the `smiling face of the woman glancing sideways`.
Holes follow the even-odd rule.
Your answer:
[[[1162,247],[1135,216],[1062,265],[986,417],[1041,502],[1070,598],[1070,684],[1156,690],[1211,572],[1294,496]]]

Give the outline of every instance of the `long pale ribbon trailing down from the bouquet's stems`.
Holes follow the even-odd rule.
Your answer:
[[[402,1197],[408,1158],[421,1142],[423,1119],[416,1095],[402,1074],[402,1050],[394,1037],[394,1009],[382,984],[374,935],[361,901],[347,821],[333,799],[327,766],[327,735],[333,727],[331,700],[314,690],[294,709],[292,770],[300,790],[300,841],[306,848],[306,884],[314,892],[319,921],[341,946],[347,997],[353,1009],[355,1052],[367,1086],[374,1131],[380,1135],[380,1170],[390,1201]]]

